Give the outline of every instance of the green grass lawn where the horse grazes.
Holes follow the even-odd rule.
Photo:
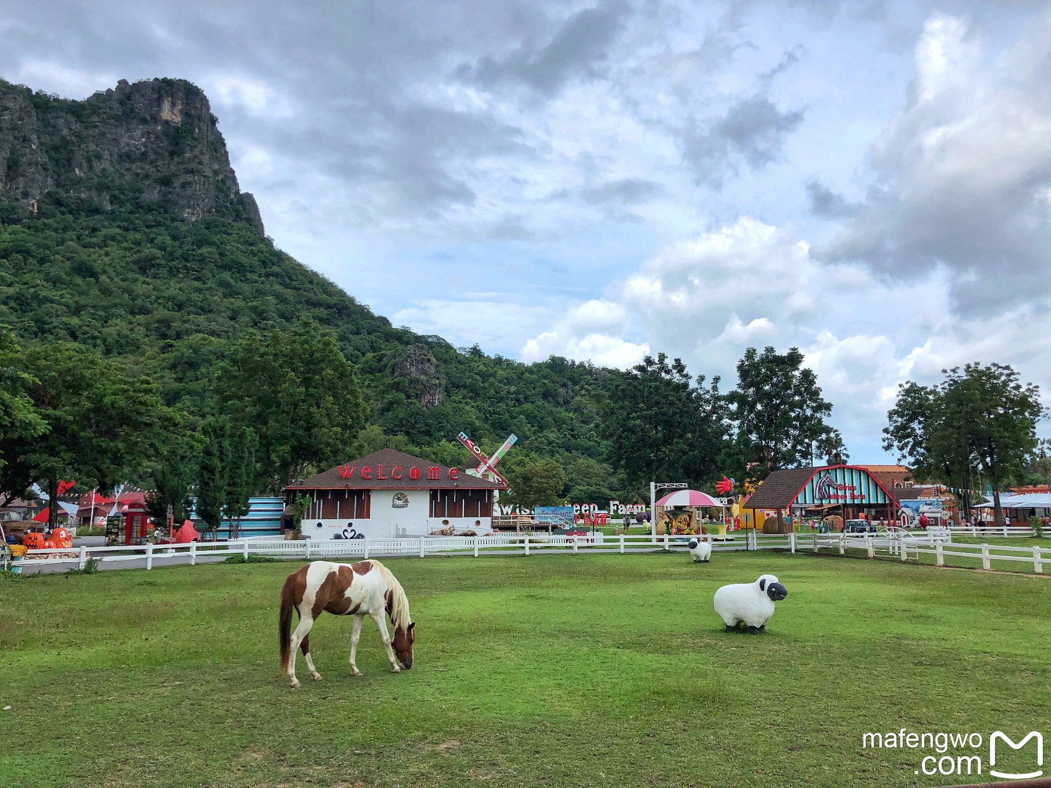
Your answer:
[[[326,615],[324,681],[300,660],[300,690],[276,664],[296,563],[0,582],[0,786],[933,786],[984,781],[916,776],[929,752],[862,732],[1051,737],[1046,578],[769,553],[387,564],[415,667],[391,675],[367,622],[351,677],[350,621]],[[789,592],[768,631],[724,634],[715,589],[764,572]]]

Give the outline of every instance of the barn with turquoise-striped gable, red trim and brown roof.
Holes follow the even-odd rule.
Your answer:
[[[807,516],[837,516],[843,521],[858,517],[887,520],[899,504],[890,491],[863,465],[826,465],[772,471],[742,510]],[[776,517],[776,514],[775,514]],[[782,519],[781,530],[785,530]],[[775,527],[767,516],[764,530]]]

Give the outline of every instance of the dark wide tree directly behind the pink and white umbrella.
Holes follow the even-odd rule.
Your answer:
[[[695,385],[682,359],[646,356],[617,373],[601,402],[606,460],[628,483],[713,478],[724,451],[725,402],[719,378]]]

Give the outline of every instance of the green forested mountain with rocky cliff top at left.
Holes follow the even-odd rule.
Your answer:
[[[148,139],[129,133],[122,148],[121,133],[98,133],[103,123]],[[306,317],[356,366],[372,424],[362,448],[394,440],[448,458],[461,430],[490,449],[514,432],[510,463],[562,457],[577,494],[617,489],[599,462],[595,401],[617,373],[523,365],[394,328],[274,248],[188,83],[123,83],[85,102],[0,83],[0,324],[23,344],[71,340],[125,361],[192,419],[213,407],[232,343]]]

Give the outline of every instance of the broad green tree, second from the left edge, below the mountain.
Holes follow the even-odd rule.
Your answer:
[[[18,461],[43,480],[50,499],[48,526],[58,524],[60,479],[87,488],[112,488],[139,475],[164,444],[174,423],[158,387],[130,377],[123,365],[73,343],[25,351],[33,376],[28,394],[47,423],[46,433],[16,447]]]

